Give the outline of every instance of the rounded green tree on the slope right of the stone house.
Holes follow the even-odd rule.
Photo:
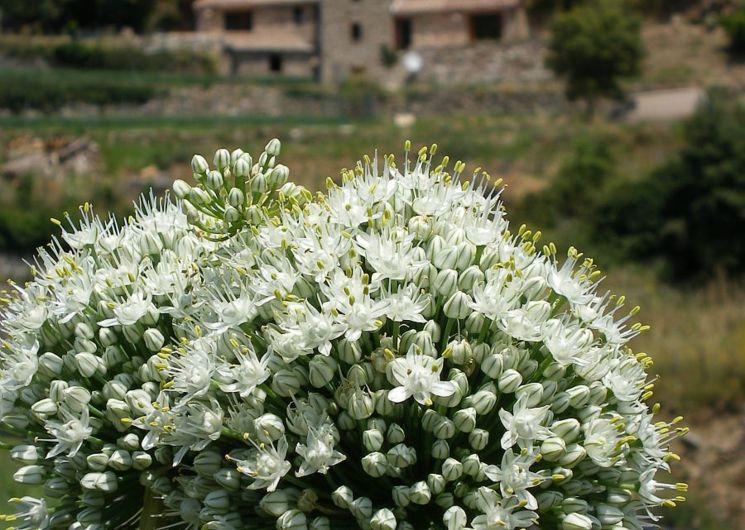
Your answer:
[[[546,62],[592,113],[600,97],[623,99],[620,81],[639,73],[643,57],[641,20],[620,0],[598,0],[556,16]]]

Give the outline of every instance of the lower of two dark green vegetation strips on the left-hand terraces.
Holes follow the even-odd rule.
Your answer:
[[[21,112],[28,109],[53,111],[70,103],[141,104],[162,92],[152,85],[138,82],[102,79],[92,82],[74,77],[62,80],[19,71],[3,75],[0,108]]]

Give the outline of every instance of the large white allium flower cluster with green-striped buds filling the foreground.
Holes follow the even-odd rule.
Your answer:
[[[87,206],[4,300],[15,528],[640,530],[685,429],[623,298],[424,148],[323,194],[272,140]]]

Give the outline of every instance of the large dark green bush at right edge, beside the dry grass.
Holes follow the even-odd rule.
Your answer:
[[[745,106],[712,92],[679,155],[598,205],[596,238],[660,257],[675,278],[745,272]]]

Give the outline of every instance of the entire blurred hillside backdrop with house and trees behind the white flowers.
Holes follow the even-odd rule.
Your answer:
[[[745,528],[745,3],[2,0],[0,278],[85,201],[125,216],[193,153],[282,139],[319,189],[437,142],[503,177],[513,224],[642,307],[692,431],[665,525]],[[0,498],[23,494],[0,456]],[[0,508],[4,505],[0,505]]]

